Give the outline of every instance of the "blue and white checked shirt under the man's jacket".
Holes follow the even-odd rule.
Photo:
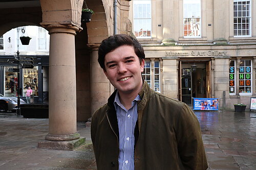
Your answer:
[[[119,100],[118,92],[115,96],[114,105],[119,129],[119,170],[134,170],[134,129],[138,118],[138,101],[140,100],[140,96],[137,95],[132,102],[131,109],[126,110]]]

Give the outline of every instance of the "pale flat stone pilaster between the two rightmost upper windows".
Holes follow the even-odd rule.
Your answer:
[[[214,44],[227,44],[229,36],[229,1],[214,0]],[[226,31],[225,31],[226,30]]]

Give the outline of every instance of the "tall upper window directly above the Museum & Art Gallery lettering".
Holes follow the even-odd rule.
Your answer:
[[[183,0],[185,38],[201,37],[201,0]]]

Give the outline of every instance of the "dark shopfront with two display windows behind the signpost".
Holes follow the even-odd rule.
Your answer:
[[[19,80],[17,64],[8,63],[13,56],[0,57],[0,93],[5,96],[17,96],[17,87],[22,88],[21,98],[26,101],[26,91],[31,87],[33,91],[32,102],[48,102],[48,65],[49,56],[26,56],[33,58],[33,68],[19,68]],[[3,79],[2,79],[3,78]]]

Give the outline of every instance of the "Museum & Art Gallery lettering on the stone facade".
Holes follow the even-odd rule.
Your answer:
[[[191,51],[191,52],[173,52],[173,51],[165,51],[165,56],[166,57],[171,57],[171,56],[174,56],[174,57],[186,57],[186,56],[209,56],[209,57],[212,57],[212,56],[219,56],[219,57],[223,57],[223,56],[226,56],[227,55],[227,52],[222,52],[222,51]]]

